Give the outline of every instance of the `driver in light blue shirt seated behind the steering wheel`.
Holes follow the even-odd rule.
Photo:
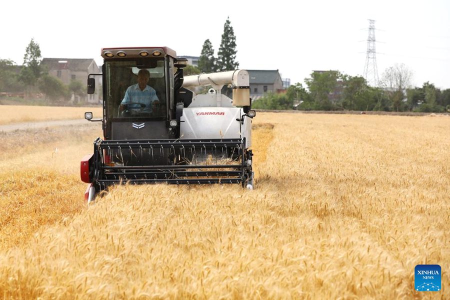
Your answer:
[[[154,88],[147,85],[148,79],[150,78],[150,72],[147,69],[140,69],[137,73],[137,83],[128,86],[125,92],[123,100],[120,102],[120,111],[125,108],[124,104],[129,103],[141,103],[145,107],[140,108],[140,106],[133,105],[129,106],[129,109],[136,110],[138,112],[144,112],[151,114],[153,111],[152,106],[154,104],[159,104],[159,99],[156,95]]]

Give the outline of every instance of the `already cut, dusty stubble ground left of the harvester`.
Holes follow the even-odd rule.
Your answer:
[[[87,121],[0,135],[0,249],[81,211],[79,160],[99,135],[99,124]]]

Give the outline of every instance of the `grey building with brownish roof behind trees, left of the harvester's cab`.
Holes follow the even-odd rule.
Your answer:
[[[58,78],[64,84],[69,84],[71,80],[78,80],[83,85],[86,85],[88,74],[101,73],[93,58],[42,58],[40,65],[49,75]],[[84,97],[76,96],[76,98],[72,95],[72,101],[85,100],[89,103],[98,103],[100,101],[98,91],[101,89],[101,85],[99,85],[98,76],[94,76],[94,78],[97,86],[95,93],[86,93]]]

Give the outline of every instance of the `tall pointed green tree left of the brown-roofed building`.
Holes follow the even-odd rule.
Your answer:
[[[33,86],[40,76],[40,48],[39,44],[34,42],[31,38],[28,46],[25,49],[23,56],[23,65],[20,70],[19,79],[28,86],[28,89]]]

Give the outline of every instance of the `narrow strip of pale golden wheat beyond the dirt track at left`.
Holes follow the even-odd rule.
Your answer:
[[[0,124],[83,118],[85,111],[92,111],[94,117],[101,116],[101,107],[59,107],[0,105]]]

